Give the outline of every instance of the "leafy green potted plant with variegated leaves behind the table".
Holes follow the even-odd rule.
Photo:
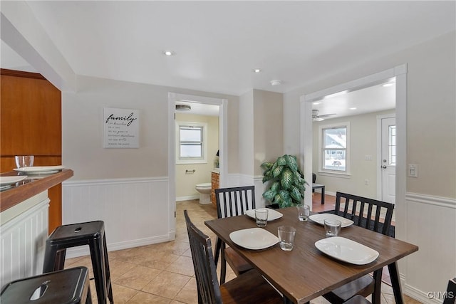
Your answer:
[[[264,169],[263,184],[268,183],[264,199],[278,204],[279,208],[302,204],[307,182],[299,170],[296,156],[285,154],[276,162],[264,162],[261,168]]]

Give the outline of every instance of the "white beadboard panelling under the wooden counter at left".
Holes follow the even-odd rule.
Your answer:
[[[42,273],[48,238],[47,193],[35,196],[34,206],[1,225],[0,286]]]

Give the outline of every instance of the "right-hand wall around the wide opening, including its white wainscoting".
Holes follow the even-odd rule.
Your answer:
[[[419,176],[407,178],[405,201],[396,204],[396,231],[398,239],[420,247],[399,266],[405,292],[424,303],[437,303],[427,298],[427,292],[443,290],[456,274],[455,36],[452,31],[359,63],[284,95],[284,149],[293,153],[300,147],[296,126],[300,124],[301,95],[408,64],[406,158],[408,164],[419,165]]]

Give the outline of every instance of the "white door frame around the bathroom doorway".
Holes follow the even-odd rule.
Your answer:
[[[179,100],[192,100],[195,103],[219,106],[219,167],[220,167],[220,187],[227,183],[228,176],[228,127],[227,127],[227,103],[224,98],[209,98],[204,96],[188,95],[181,93],[168,93],[168,184],[169,184],[169,210],[170,210],[170,234],[175,234],[176,221],[176,139],[175,139],[175,104]],[[175,235],[170,236],[170,240],[175,239]]]

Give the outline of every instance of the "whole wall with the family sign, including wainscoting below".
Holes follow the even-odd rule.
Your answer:
[[[110,250],[174,239],[175,202],[168,190],[169,92],[226,98],[228,114],[237,117],[237,97],[157,85],[79,77],[78,92],[62,94],[63,164],[74,171],[63,183],[63,224],[105,221]],[[104,107],[139,110],[138,149],[103,148]],[[237,126],[229,120],[229,142],[237,142],[233,130]],[[229,155],[228,170],[230,164],[237,167],[237,158],[237,153]],[[70,256],[84,253],[71,251]]]

